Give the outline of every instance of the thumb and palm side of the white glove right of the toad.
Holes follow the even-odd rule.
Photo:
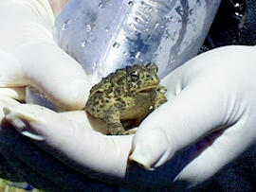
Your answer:
[[[163,79],[169,101],[139,126],[130,160],[157,170],[180,152],[175,181],[196,184],[255,146],[255,53],[254,46],[217,48]]]

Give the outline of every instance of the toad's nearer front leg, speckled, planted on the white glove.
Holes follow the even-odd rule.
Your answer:
[[[111,107],[105,116],[105,122],[107,129],[112,135],[124,135],[127,132],[124,130],[121,122],[120,122],[120,112],[118,106]]]

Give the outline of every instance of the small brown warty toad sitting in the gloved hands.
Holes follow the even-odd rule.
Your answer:
[[[118,69],[91,88],[85,111],[103,119],[111,135],[134,133],[134,129],[127,130],[130,122],[136,127],[167,100],[156,73],[153,62]]]

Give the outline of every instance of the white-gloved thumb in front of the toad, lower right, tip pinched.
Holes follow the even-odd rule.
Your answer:
[[[214,131],[221,119],[222,112],[216,107],[219,101],[202,105],[202,100],[214,100],[212,95],[202,96],[202,91],[199,87],[188,87],[151,113],[134,137],[130,160],[146,169],[155,169],[171,159],[176,151]]]

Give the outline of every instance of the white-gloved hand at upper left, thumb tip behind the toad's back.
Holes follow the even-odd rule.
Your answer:
[[[55,44],[53,13],[39,2],[0,3],[0,86],[32,85],[62,110],[82,109],[91,85],[80,64]]]

